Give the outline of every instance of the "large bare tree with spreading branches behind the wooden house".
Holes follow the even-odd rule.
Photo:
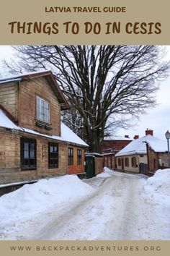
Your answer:
[[[155,104],[169,64],[158,46],[16,46],[14,72],[51,69],[79,116],[89,150],[106,130],[124,126]],[[121,116],[121,119],[120,119]]]

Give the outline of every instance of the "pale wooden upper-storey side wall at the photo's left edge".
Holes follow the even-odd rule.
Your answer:
[[[17,82],[0,84],[0,104],[17,120]]]

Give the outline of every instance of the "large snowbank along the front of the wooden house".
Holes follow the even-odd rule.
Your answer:
[[[37,213],[89,195],[93,189],[76,175],[42,179],[0,197],[3,223],[30,218]]]

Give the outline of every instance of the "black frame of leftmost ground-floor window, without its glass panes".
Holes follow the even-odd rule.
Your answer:
[[[28,143],[28,158],[24,158],[24,143]],[[31,151],[30,145],[34,144],[34,158],[31,158]],[[26,151],[26,150],[25,150]],[[24,164],[24,159],[28,159],[28,165]],[[30,161],[34,159],[35,164],[31,165]],[[22,171],[30,171],[37,169],[37,140],[29,138],[29,137],[21,137],[20,140],[20,161],[21,161],[21,170]]]

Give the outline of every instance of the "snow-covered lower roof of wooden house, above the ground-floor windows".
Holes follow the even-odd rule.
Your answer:
[[[89,145],[87,145],[86,142],[84,142],[84,140],[81,140],[79,136],[77,136],[73,131],[71,131],[71,129],[69,129],[66,126],[66,124],[61,123],[61,136],[45,135],[40,132],[36,132],[32,129],[18,127],[16,124],[13,123],[13,121],[9,119],[8,116],[6,116],[4,111],[2,111],[1,109],[0,109],[0,127],[15,129],[15,130],[27,132],[34,135],[39,135],[42,137],[48,137],[53,140],[58,140],[58,141],[68,142],[76,145],[81,145],[84,147],[89,147]]]

